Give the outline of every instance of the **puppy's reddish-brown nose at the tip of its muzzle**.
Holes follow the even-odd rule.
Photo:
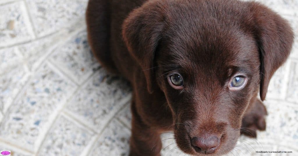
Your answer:
[[[214,135],[208,135],[204,137],[193,137],[191,144],[194,146],[196,152],[203,154],[210,154],[215,151],[219,145],[220,140]]]

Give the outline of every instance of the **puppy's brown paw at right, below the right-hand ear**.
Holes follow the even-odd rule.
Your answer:
[[[256,130],[264,131],[266,129],[266,115],[266,107],[260,100],[257,100],[250,108],[248,108],[242,119],[241,134],[256,138]]]

